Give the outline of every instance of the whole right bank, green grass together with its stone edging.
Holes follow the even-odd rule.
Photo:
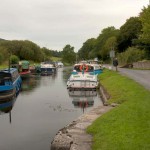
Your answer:
[[[108,106],[97,107],[61,129],[52,142],[52,150],[64,148],[65,141],[65,150],[150,149],[150,92],[110,70],[100,75],[100,83],[107,89],[100,87]],[[105,101],[107,98],[109,101]],[[117,107],[112,109],[109,104]]]

